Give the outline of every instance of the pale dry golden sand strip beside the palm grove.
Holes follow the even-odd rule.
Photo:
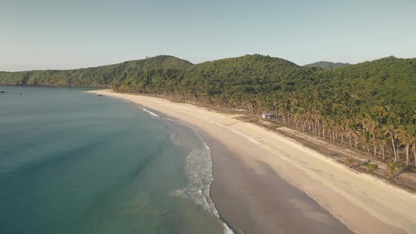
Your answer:
[[[282,178],[315,199],[356,233],[416,233],[416,196],[372,176],[355,173],[326,156],[233,115],[155,97],[92,91],[134,101],[196,125],[252,170],[262,161]],[[290,201],[301,207],[296,201]],[[305,207],[307,210],[307,207]],[[313,214],[307,214],[313,216]],[[317,217],[319,218],[319,217]]]

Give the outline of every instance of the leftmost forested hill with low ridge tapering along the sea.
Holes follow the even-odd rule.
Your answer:
[[[174,56],[155,56],[94,68],[0,72],[0,85],[110,85],[114,79],[135,77],[143,70],[181,70],[187,66],[192,66],[192,63]]]

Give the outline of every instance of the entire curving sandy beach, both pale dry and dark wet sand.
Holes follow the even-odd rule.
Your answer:
[[[416,195],[355,173],[237,115],[111,90],[195,126],[212,150],[212,199],[244,233],[416,233]]]

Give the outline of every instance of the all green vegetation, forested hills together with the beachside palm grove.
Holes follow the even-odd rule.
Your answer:
[[[416,165],[416,58],[393,56],[330,70],[247,55],[192,64],[173,56],[78,70],[0,73],[5,85],[110,85],[250,114],[367,154]]]

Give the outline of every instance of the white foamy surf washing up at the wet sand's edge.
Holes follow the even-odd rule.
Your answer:
[[[214,181],[211,151],[202,137],[198,134],[197,136],[200,138],[200,144],[186,156],[185,170],[188,183],[186,187],[177,190],[174,194],[199,204],[216,218],[220,218],[214,202],[209,197],[209,189],[212,181]],[[233,230],[226,223],[223,222],[223,226],[225,234],[233,234]]]

